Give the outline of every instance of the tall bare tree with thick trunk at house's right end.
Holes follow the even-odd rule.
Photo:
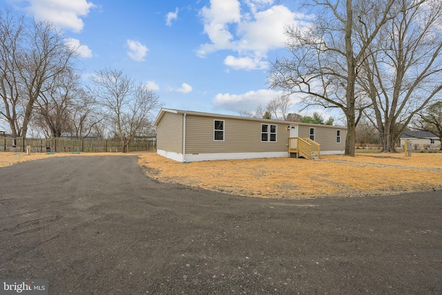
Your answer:
[[[313,0],[316,19],[302,28],[287,28],[286,48],[291,58],[273,62],[269,75],[272,88],[301,93],[307,105],[340,108],[347,118],[345,155],[354,156],[356,125],[367,99],[356,88],[358,69],[379,30],[392,17],[396,0]],[[376,26],[363,39],[355,23],[376,15]],[[356,41],[358,40],[358,41]]]

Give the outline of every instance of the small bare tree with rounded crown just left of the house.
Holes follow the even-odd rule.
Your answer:
[[[162,106],[159,97],[146,86],[124,75],[122,70],[106,68],[93,78],[91,93],[106,110],[113,132],[122,141],[122,151],[153,120],[152,112]]]

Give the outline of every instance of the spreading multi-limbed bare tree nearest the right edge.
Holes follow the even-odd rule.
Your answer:
[[[442,2],[401,0],[395,6],[399,13],[370,44],[358,77],[384,152],[396,152],[412,118],[442,90]],[[365,36],[375,22],[360,21],[358,34]]]

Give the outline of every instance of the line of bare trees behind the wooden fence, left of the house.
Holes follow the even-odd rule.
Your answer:
[[[81,79],[79,46],[48,21],[0,12],[0,120],[12,137],[117,138],[122,150],[135,137],[154,135],[162,106],[154,91],[122,70],[97,70]],[[23,147],[24,149],[24,147]]]

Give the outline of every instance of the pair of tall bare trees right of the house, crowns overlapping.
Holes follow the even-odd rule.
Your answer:
[[[345,155],[354,156],[361,120],[376,128],[385,152],[396,151],[410,125],[439,132],[440,115],[428,112],[441,102],[442,1],[312,0],[305,8],[315,19],[287,28],[289,57],[273,61],[271,88],[305,106],[338,108]]]

